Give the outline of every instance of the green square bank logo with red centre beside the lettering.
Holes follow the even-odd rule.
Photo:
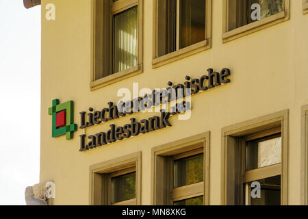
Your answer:
[[[66,135],[66,139],[73,139],[73,132],[77,131],[77,124],[74,124],[74,102],[61,103],[58,99],[53,100],[53,106],[48,109],[52,115],[52,136],[53,138]]]

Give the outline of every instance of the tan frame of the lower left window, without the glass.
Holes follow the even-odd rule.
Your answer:
[[[141,152],[90,166],[90,205],[141,205]],[[111,178],[136,172],[136,198],[111,203]]]

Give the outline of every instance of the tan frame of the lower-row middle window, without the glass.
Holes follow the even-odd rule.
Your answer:
[[[209,135],[208,131],[152,149],[151,205],[173,205],[173,201],[196,194],[203,195],[203,205],[209,205]],[[203,182],[176,188],[173,194],[172,158],[195,152],[203,153]],[[199,192],[201,187],[202,193]]]

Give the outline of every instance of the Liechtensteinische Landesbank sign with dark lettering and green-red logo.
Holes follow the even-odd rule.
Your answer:
[[[155,112],[157,116],[144,118],[140,121],[136,118],[130,118],[129,123],[123,126],[116,127],[112,124],[107,131],[101,131],[90,136],[82,134],[79,136],[79,151],[88,151],[122,141],[131,136],[138,136],[172,126],[169,122],[171,116],[177,114],[183,116],[184,113],[191,111],[192,94],[216,88],[224,83],[230,83],[228,77],[231,75],[231,71],[229,68],[223,68],[220,73],[209,68],[207,72],[207,75],[200,78],[192,79],[190,76],[186,76],[186,81],[177,85],[173,85],[169,81],[167,83],[168,88],[150,90],[151,92],[133,100],[121,99],[118,104],[109,102],[100,110],[89,107],[88,112],[80,112],[80,129],[107,123],[137,112]],[[60,104],[58,99],[53,100],[52,107],[49,108],[49,115],[52,115],[53,138],[63,135],[66,135],[68,140],[73,138],[73,132],[77,131],[77,125],[74,124],[73,109],[73,101]]]

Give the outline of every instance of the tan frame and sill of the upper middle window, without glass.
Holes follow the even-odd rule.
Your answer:
[[[212,13],[212,0],[205,0],[205,40],[201,42],[197,42],[196,44],[192,44],[188,47],[184,47],[183,49],[177,49],[172,53],[168,53],[166,55],[162,55],[158,57],[157,54],[157,23],[158,23],[158,0],[153,1],[153,59],[152,59],[152,67],[158,68],[159,66],[163,66],[165,64],[169,64],[171,62],[175,62],[184,57],[188,57],[195,53],[199,53],[201,51],[205,51],[211,48],[211,13]],[[179,8],[179,7],[177,7]],[[177,13],[178,14],[178,13]],[[178,14],[179,16],[179,14]],[[175,24],[179,26],[179,24]],[[179,29],[179,28],[177,28]],[[179,31],[176,33],[177,39],[179,41]]]

